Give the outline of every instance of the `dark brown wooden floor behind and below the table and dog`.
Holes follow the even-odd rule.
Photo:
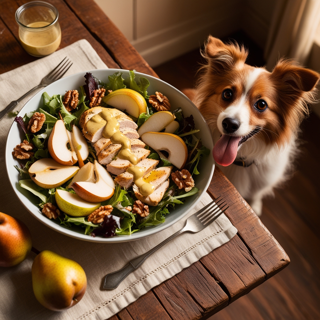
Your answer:
[[[248,37],[239,32],[232,38],[249,48],[249,64],[264,64],[262,51]],[[194,85],[201,59],[195,50],[154,70],[182,90]],[[296,170],[274,198],[264,200],[261,216],[291,263],[210,320],[320,319],[320,119],[311,114],[301,129]]]

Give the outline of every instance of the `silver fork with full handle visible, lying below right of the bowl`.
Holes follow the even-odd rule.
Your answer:
[[[218,200],[219,199],[219,200]],[[116,287],[135,269],[139,268],[141,264],[146,261],[146,259],[161,248],[168,241],[173,239],[174,237],[180,235],[184,232],[196,233],[203,230],[205,227],[209,226],[214,220],[216,220],[220,215],[225,212],[229,206],[224,204],[225,201],[222,201],[223,198],[219,196],[202,209],[194,213],[190,216],[182,229],[174,233],[172,236],[168,237],[146,253],[141,254],[140,256],[133,258],[129,261],[129,263],[124,266],[122,269],[109,273],[104,278],[104,284],[102,286],[103,289],[116,289]],[[221,206],[224,204],[223,206]],[[227,207],[226,207],[227,206]],[[223,209],[223,210],[222,210]]]

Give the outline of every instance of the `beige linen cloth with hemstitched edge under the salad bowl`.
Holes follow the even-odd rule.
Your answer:
[[[73,61],[66,76],[94,68],[107,68],[91,45],[86,40],[80,40],[48,57],[0,75],[0,110],[37,85],[65,56]],[[20,109],[30,98],[22,101],[18,108]],[[83,299],[76,306],[63,312],[45,309],[37,302],[32,292],[31,266],[35,254],[31,252],[20,265],[0,268],[0,318],[3,320],[107,319],[154,286],[228,242],[237,232],[226,216],[221,215],[216,222],[201,232],[180,235],[166,244],[115,290],[101,291],[102,279],[107,273],[122,268],[128,260],[148,251],[182,228],[189,215],[211,201],[210,196],[205,194],[194,210],[173,226],[140,240],[101,244],[64,236],[31,216],[10,187],[4,164],[4,148],[12,121],[13,117],[6,116],[0,122],[0,211],[19,218],[28,226],[33,245],[38,250],[52,250],[80,263],[87,275],[88,286]]]

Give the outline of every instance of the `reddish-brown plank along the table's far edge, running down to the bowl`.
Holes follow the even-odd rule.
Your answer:
[[[84,26],[123,69],[137,70],[151,76],[156,73],[130,44],[123,33],[93,1],[65,0]]]

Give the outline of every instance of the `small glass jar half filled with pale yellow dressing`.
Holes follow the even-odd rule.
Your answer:
[[[61,42],[59,12],[44,1],[31,1],[16,11],[22,47],[34,57],[55,52]]]

